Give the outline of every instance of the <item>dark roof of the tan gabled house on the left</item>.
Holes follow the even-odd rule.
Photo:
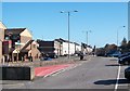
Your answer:
[[[8,34],[14,34],[14,35],[18,35],[22,31],[24,31],[26,28],[8,28],[5,29],[5,35]]]

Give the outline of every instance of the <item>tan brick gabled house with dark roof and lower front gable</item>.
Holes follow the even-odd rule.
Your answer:
[[[27,28],[8,28],[4,38],[12,41],[11,49],[9,49],[9,61],[27,61],[29,56],[32,56],[32,60],[39,58],[38,43],[32,40]]]

